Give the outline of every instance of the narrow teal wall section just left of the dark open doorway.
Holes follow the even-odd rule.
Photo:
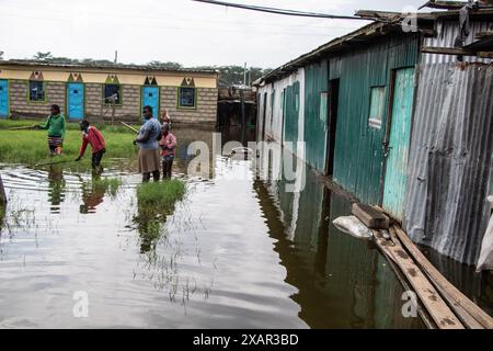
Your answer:
[[[326,116],[322,116],[321,93],[329,88],[326,60],[305,67],[305,152],[306,162],[323,172],[325,168]]]

